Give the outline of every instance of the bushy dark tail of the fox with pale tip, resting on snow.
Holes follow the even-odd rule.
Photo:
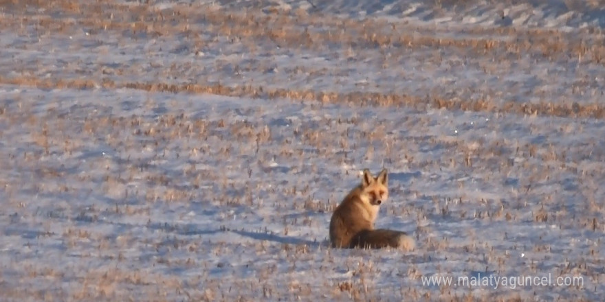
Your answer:
[[[408,233],[388,229],[363,230],[351,240],[351,248],[401,248],[411,251],[416,244]]]

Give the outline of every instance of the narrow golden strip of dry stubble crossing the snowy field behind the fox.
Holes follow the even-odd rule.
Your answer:
[[[271,100],[317,100],[321,102],[344,102],[357,106],[409,106],[412,108],[426,109],[437,108],[447,110],[477,111],[488,113],[514,113],[520,115],[545,115],[553,117],[591,117],[595,119],[605,118],[605,106],[600,104],[580,105],[558,104],[540,102],[538,104],[507,102],[497,106],[493,100],[448,100],[438,97],[426,98],[412,95],[393,95],[384,93],[338,93],[317,92],[314,90],[292,90],[292,89],[266,89],[263,86],[223,86],[221,84],[165,84],[165,83],[140,83],[126,82],[116,84],[113,82],[95,82],[94,80],[46,80],[38,78],[6,78],[0,77],[0,83],[35,86],[43,89],[92,89],[102,87],[105,89],[140,89],[149,92],[170,93],[211,93],[231,97],[268,97]]]

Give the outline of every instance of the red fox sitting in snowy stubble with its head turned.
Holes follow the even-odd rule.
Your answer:
[[[382,202],[388,198],[388,175],[383,169],[377,177],[365,169],[362,183],[351,190],[336,207],[330,220],[330,242],[337,248],[384,248],[410,251],[415,242],[407,233],[374,229]]]

